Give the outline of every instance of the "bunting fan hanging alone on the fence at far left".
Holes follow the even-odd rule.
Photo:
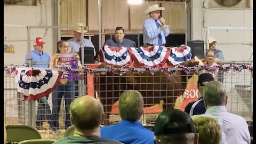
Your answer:
[[[17,68],[15,79],[17,91],[25,100],[38,100],[50,94],[60,82],[62,71],[43,68]]]

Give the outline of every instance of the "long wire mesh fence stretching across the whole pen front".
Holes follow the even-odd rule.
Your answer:
[[[94,76],[90,78],[89,75],[85,74],[78,81],[59,83],[48,98],[43,97],[49,107],[41,106],[36,100],[35,107],[32,108],[35,109],[35,114],[32,116],[36,119],[33,123],[39,123],[39,127],[36,128],[41,134],[46,134],[46,138],[49,138],[51,125],[51,128],[58,132],[57,136],[51,138],[58,139],[65,129],[71,125],[68,111],[71,101],[81,95],[90,94],[102,102],[105,111],[103,124],[116,124],[121,120],[118,115],[117,101],[119,96],[126,90],[137,90],[141,92],[145,103],[141,122],[143,125],[154,125],[162,109],[173,108],[176,99],[183,95],[187,78],[190,77],[181,72],[181,70],[177,70],[176,75],[166,76],[159,71],[155,71],[154,75],[149,71],[140,74],[126,71],[125,75],[120,76],[108,71],[94,73]],[[228,73],[223,73],[220,76],[228,95],[227,110],[230,113],[244,117],[246,121],[252,121],[252,72],[249,69],[243,69],[240,72],[229,69]],[[28,125],[31,119],[29,117],[28,101],[24,100],[23,94],[17,92],[15,73],[9,75],[5,71],[4,105],[6,124]],[[50,114],[46,113],[49,108]]]

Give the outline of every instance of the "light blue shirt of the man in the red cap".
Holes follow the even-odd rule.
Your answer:
[[[34,51],[31,51],[30,53],[31,55],[31,61],[32,62],[47,62],[47,63],[50,63],[50,56],[49,54],[45,53],[45,52],[38,52],[36,50]],[[25,56],[25,63],[27,63],[27,58],[28,58],[28,55],[26,54]],[[42,65],[42,64],[39,64],[39,65],[33,65],[32,67],[35,67],[35,68],[49,68],[49,64],[48,65]]]

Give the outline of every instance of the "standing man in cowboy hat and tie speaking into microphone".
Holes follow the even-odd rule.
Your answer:
[[[165,37],[170,34],[169,27],[165,25],[165,20],[159,17],[160,11],[165,10],[157,4],[149,6],[145,14],[149,14],[149,19],[143,25],[143,43],[146,46],[165,45]]]

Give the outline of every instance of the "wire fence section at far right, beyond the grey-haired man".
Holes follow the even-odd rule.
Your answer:
[[[252,73],[247,69],[241,72],[229,70],[223,84],[228,95],[228,111],[252,121]]]

